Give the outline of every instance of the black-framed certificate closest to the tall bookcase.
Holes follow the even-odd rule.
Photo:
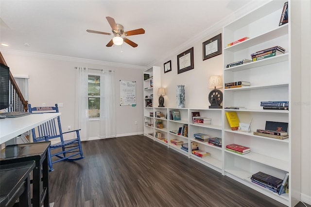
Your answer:
[[[222,34],[216,35],[202,43],[203,60],[222,53]]]

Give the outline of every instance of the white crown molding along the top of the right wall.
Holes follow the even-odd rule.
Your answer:
[[[220,21],[214,23],[212,26],[205,29],[204,31],[202,31],[198,35],[191,37],[189,40],[187,40],[183,44],[181,44],[178,48],[175,48],[174,50],[167,52],[166,54],[164,54],[162,56],[162,58],[160,58],[158,60],[154,60],[154,62],[149,64],[147,68],[154,66],[159,61],[162,61],[163,63],[166,62],[168,60],[168,57],[174,56],[176,54],[179,54],[179,53],[189,49],[196,42],[201,41],[202,39],[206,38],[209,35],[216,33],[217,31],[220,31],[220,30],[222,31],[223,27],[225,25],[231,23],[232,21],[235,21],[236,19],[243,17],[245,14],[253,12],[255,9],[266,4],[269,1],[271,1],[271,0],[251,0],[251,1],[249,1],[247,4],[245,4],[243,7],[241,7],[237,11],[226,16],[225,18],[221,19]],[[223,33],[223,31],[221,33]]]

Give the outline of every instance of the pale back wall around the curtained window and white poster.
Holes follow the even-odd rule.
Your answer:
[[[40,56],[34,53],[1,51],[13,74],[29,75],[29,104],[32,106],[47,106],[63,103],[59,110],[62,113],[63,131],[67,126],[75,129],[75,67],[92,69],[115,70],[115,97],[117,136],[128,136],[143,133],[142,111],[142,69],[118,66],[103,66],[69,58],[55,56]],[[53,59],[51,59],[53,58]],[[136,81],[137,105],[120,106],[120,80]],[[138,125],[135,125],[138,121]],[[99,128],[99,121],[91,121],[89,137],[98,136],[95,129]]]

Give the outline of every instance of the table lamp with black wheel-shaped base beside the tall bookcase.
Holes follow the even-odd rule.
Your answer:
[[[209,87],[214,88],[209,92],[208,101],[210,106],[208,108],[223,108],[220,104],[223,102],[223,92],[216,88],[222,88],[223,81],[222,77],[219,75],[212,75],[209,77]]]

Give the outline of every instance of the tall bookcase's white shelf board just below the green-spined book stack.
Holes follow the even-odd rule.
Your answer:
[[[278,54],[278,55],[270,57],[270,58],[265,58],[265,59],[257,60],[254,62],[245,63],[245,64],[234,66],[231,68],[225,68],[224,71],[236,72],[236,71],[241,71],[241,70],[246,70],[246,69],[258,68],[261,66],[266,66],[266,65],[270,65],[270,64],[274,64],[274,63],[288,61],[288,59],[289,59],[289,53],[286,52],[284,54]]]

